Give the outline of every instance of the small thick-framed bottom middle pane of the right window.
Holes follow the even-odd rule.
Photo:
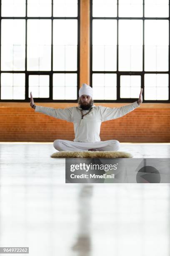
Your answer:
[[[141,87],[141,76],[120,76],[120,98],[138,98]]]

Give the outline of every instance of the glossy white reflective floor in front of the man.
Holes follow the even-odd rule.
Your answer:
[[[52,143],[0,143],[0,246],[30,256],[170,256],[170,184],[65,184]],[[121,143],[168,158],[170,143]]]

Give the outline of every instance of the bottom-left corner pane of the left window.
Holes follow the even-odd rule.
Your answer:
[[[1,74],[1,100],[25,100],[25,74]]]

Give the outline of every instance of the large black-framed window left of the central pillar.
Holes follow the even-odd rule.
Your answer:
[[[0,101],[77,102],[80,0],[1,0]]]

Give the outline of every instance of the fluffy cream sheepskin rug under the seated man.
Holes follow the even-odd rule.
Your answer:
[[[121,151],[60,151],[53,153],[50,157],[119,158],[133,157],[133,155]]]

